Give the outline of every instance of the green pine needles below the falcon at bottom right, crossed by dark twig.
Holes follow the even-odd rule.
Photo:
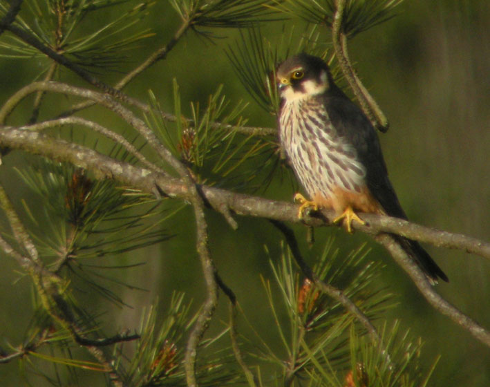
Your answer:
[[[330,238],[314,272],[326,283],[345,289],[373,320],[393,306],[393,295],[375,285],[380,265],[367,261],[367,255],[361,246],[340,256]],[[260,346],[249,356],[277,369],[276,375],[281,376],[276,385],[344,387],[351,377],[352,386],[425,386],[428,377],[418,370],[422,344],[413,343],[408,332],[399,334],[398,323],[390,329],[385,326],[380,342],[373,343],[340,303],[301,279],[289,251],[277,263],[271,261],[271,266],[273,281],[263,279],[263,286],[274,329],[267,337],[257,334],[254,343]],[[281,350],[271,346],[274,341],[281,343]],[[271,384],[261,381],[261,385]]]

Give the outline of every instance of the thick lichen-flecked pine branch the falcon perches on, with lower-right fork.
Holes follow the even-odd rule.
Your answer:
[[[102,155],[86,147],[63,140],[55,140],[43,133],[32,133],[4,127],[3,130],[0,131],[0,145],[11,147],[12,149],[21,149],[28,153],[43,155],[44,157],[54,160],[70,162],[78,167],[93,171],[100,177],[105,176],[107,178],[113,178],[114,180],[132,185],[133,187],[137,187],[148,193],[152,193],[155,187],[158,187],[158,189],[170,198],[180,198],[189,201],[195,200],[194,193],[189,188],[189,185],[182,182],[180,179],[168,178],[167,176],[161,176],[158,173],[151,172],[147,169],[135,167],[127,162],[113,160],[106,155]],[[234,213],[243,216],[254,216],[288,221],[291,223],[299,222],[297,218],[298,207],[292,203],[277,202],[207,186],[200,186],[199,192],[202,194],[205,201],[209,202],[209,205],[211,205],[212,208],[219,208],[220,206],[226,205],[229,209],[234,211]],[[320,213],[321,217],[308,218],[305,223],[314,227],[330,225],[334,215],[334,211],[323,210]],[[413,226],[413,223],[402,222],[401,220],[392,221],[391,218],[386,216],[373,214],[361,214],[361,216],[368,220],[368,225],[354,225],[355,229],[359,229],[360,231],[375,236],[381,232],[393,234],[403,232],[404,235],[409,237],[413,236],[414,239],[417,239],[417,236],[420,235],[422,230],[430,230],[418,225]],[[201,233],[202,235],[205,235],[204,232]],[[437,235],[439,243],[446,247],[465,249],[469,252],[475,252],[475,254],[484,256],[485,258],[490,258],[490,244],[484,243],[482,240],[477,241],[474,238],[451,234],[449,232],[437,232],[434,230],[432,230],[430,235],[430,238],[435,238]],[[420,238],[420,240],[430,242],[430,238],[428,237],[423,240]],[[471,243],[475,243],[475,246],[472,246]],[[207,254],[205,246],[199,246],[199,248],[204,249],[202,262],[208,262],[207,259],[205,259]],[[399,252],[399,256],[404,256],[405,260],[411,261],[411,258],[401,251]],[[412,266],[411,270],[417,272],[418,276],[424,275],[415,264]],[[402,267],[408,271],[408,266],[402,265]],[[211,273],[211,267],[209,265],[206,267],[203,266],[203,269],[204,268]],[[214,279],[209,281],[209,285],[211,285],[213,281]],[[426,287],[425,285],[420,285],[419,289],[424,296],[430,299],[434,299],[435,294],[437,294],[435,290]],[[211,303],[209,305],[211,305]],[[470,330],[477,339],[487,346],[490,346],[490,332],[482,328],[469,317],[462,319],[461,317],[464,316],[464,314],[451,304],[446,302],[443,308],[445,314],[451,315],[451,318],[455,322],[459,323],[463,328]]]

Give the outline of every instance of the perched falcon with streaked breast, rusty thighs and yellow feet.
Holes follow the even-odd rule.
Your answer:
[[[334,223],[365,221],[357,212],[407,219],[388,170],[377,133],[361,108],[334,83],[326,62],[300,53],[276,68],[281,104],[279,140],[305,192],[296,193],[299,218],[307,209],[334,209]],[[432,284],[449,281],[415,240],[393,235]]]

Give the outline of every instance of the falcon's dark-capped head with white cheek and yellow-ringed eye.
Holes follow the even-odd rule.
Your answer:
[[[279,65],[276,75],[279,93],[286,101],[325,93],[331,83],[327,64],[305,53],[286,59]]]

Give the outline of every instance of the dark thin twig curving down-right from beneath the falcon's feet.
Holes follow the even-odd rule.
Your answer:
[[[376,343],[381,343],[376,328],[368,319],[366,314],[364,314],[362,310],[357,308],[357,305],[355,305],[355,303],[353,303],[348,298],[348,296],[343,294],[341,290],[337,289],[337,287],[334,287],[326,283],[325,281],[319,279],[317,274],[315,274],[311,269],[311,267],[308,266],[308,264],[304,261],[292,229],[290,229],[290,227],[286,226],[284,223],[279,222],[277,220],[270,220],[270,222],[274,225],[274,227],[279,229],[279,231],[283,234],[286,243],[288,243],[288,246],[290,247],[292,256],[294,257],[294,261],[296,261],[296,263],[299,265],[301,272],[303,272],[304,276],[308,278],[310,281],[312,281],[314,285],[316,285],[323,293],[328,294],[330,297],[332,297],[332,299],[341,303],[344,308],[346,308],[349,312],[354,314],[355,317],[357,317],[357,319],[359,320],[359,322],[362,325],[364,325],[364,328],[368,330],[373,341],[375,341]]]

